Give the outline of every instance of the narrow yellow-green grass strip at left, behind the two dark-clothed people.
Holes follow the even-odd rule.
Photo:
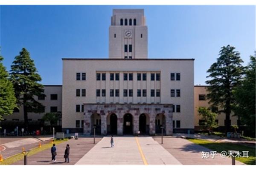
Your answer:
[[[57,145],[57,144],[60,144],[62,142],[66,142],[68,141],[69,139],[64,139],[64,140],[55,140],[54,143]],[[32,156],[36,153],[39,153],[43,150],[46,150],[46,149],[49,149],[52,147],[52,144],[51,143],[48,143],[48,144],[43,144],[41,147],[35,147],[35,148],[32,148],[28,155],[27,156]],[[21,150],[20,150],[21,151]],[[2,162],[0,162],[0,165],[9,165],[9,164],[13,164],[14,162],[16,161],[19,161],[21,159],[24,159],[24,155],[23,153],[17,153],[16,155],[13,155],[13,156],[10,156],[9,158],[6,158],[4,159]]]

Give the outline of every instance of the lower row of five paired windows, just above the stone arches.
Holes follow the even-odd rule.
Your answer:
[[[100,95],[100,92],[101,92],[101,95]],[[128,94],[129,94],[129,97],[132,97],[133,89],[129,89],[129,91],[128,91],[128,89],[123,89],[123,96],[127,97]],[[115,90],[110,89],[109,95],[111,97],[113,97],[113,96],[119,97],[119,89],[115,89]],[[97,97],[100,97],[100,96],[105,97],[106,89],[102,89],[101,91],[100,91],[100,89],[96,89],[96,96]],[[143,89],[143,90],[137,89],[137,97],[141,97],[141,96],[143,96],[143,97],[147,96],[147,89]],[[151,97],[154,97],[154,96],[160,97],[160,89],[157,89],[157,90],[151,89],[150,96]]]

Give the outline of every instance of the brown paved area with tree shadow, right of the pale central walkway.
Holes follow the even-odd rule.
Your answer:
[[[161,143],[161,137],[154,137],[154,139]],[[206,147],[194,144],[189,140],[179,137],[164,137],[163,144],[161,144],[169,153],[184,165],[231,165],[230,158],[221,158],[217,153],[214,159],[202,159],[201,152],[209,152],[212,150]],[[243,163],[236,161],[236,165]]]

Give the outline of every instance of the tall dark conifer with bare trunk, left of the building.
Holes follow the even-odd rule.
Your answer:
[[[37,72],[29,51],[22,48],[20,55],[16,56],[12,62],[10,79],[15,88],[17,104],[23,105],[26,130],[28,130],[28,112],[44,112],[44,106],[34,99],[35,96],[44,95],[44,86],[38,83],[41,81],[41,77]]]

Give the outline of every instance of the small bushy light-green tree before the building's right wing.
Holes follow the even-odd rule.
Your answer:
[[[199,107],[198,115],[204,120],[204,129],[210,134],[214,128],[218,127],[218,123],[215,122],[217,113],[213,113],[209,108]]]

